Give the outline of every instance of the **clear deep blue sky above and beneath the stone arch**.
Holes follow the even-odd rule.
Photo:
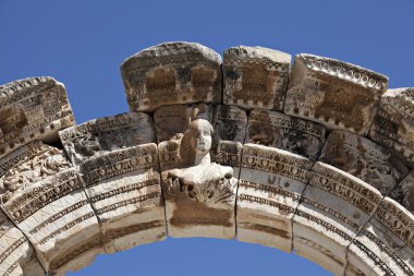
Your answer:
[[[122,61],[171,40],[264,46],[341,59],[414,86],[413,0],[0,0],[0,84],[51,75],[77,123],[127,110]],[[216,239],[168,239],[101,255],[72,276],[330,275],[294,254]]]

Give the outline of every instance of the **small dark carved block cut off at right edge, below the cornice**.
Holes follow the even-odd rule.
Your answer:
[[[390,197],[414,214],[414,170],[392,190]]]

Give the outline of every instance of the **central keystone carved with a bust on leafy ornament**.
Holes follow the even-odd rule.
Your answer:
[[[210,154],[211,107],[166,106],[154,117],[169,236],[234,238],[241,143],[219,143],[215,159],[223,166]]]

